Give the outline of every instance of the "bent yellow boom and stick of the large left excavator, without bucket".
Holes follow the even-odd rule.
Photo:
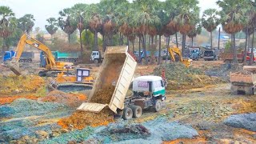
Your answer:
[[[14,58],[15,62],[18,62],[26,44],[33,46],[38,50],[42,50],[45,53],[47,70],[51,70],[54,67],[55,65],[54,55],[51,53],[50,49],[46,45],[42,44],[42,42],[39,42],[34,38],[30,38],[30,36],[26,34],[23,34],[18,42],[18,46],[16,48],[16,56]]]

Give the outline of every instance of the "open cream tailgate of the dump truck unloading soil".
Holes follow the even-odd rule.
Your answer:
[[[104,104],[100,104],[100,103],[83,102],[82,105],[77,108],[77,110],[99,113],[106,106],[107,106],[107,104],[104,105]]]

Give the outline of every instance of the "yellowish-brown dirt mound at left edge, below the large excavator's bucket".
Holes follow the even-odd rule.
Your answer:
[[[0,83],[0,95],[38,94],[46,85],[45,80],[36,75],[0,76]]]

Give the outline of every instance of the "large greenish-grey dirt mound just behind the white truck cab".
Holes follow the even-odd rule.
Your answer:
[[[154,69],[154,74],[162,76],[162,70],[165,70],[166,79],[169,83],[167,90],[198,88],[222,82],[217,77],[207,76],[202,70],[186,67],[181,62],[162,64]]]

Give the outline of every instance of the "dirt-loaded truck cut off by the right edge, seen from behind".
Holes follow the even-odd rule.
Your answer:
[[[256,66],[244,66],[242,71],[230,73],[232,94],[256,94]]]

